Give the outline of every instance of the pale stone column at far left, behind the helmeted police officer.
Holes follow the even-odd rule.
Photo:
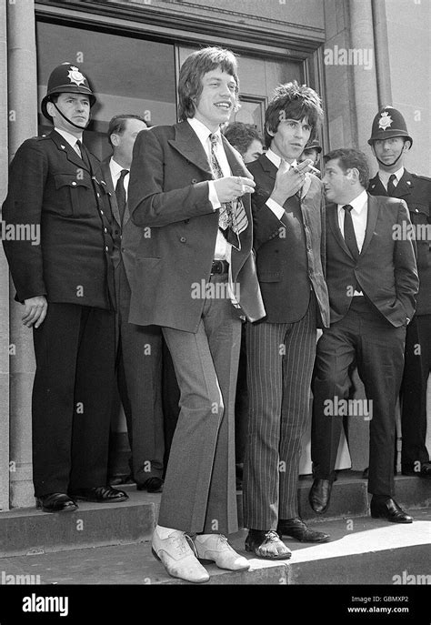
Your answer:
[[[37,135],[37,70],[34,0],[7,0],[7,78],[9,156]],[[21,321],[10,281],[10,505],[34,505],[32,482],[31,393],[35,374],[32,331]]]

